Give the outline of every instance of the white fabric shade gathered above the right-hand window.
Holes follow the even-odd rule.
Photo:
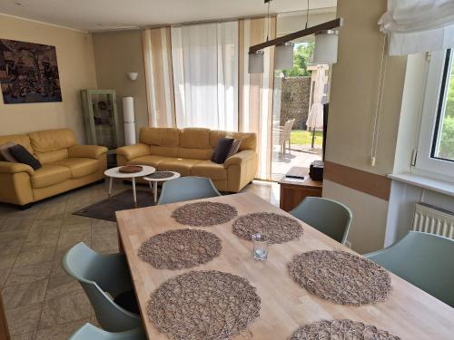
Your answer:
[[[379,24],[390,34],[390,55],[447,49],[454,46],[454,1],[388,0]]]

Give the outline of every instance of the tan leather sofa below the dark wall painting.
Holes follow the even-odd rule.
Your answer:
[[[107,148],[79,145],[70,129],[0,136],[0,144],[21,144],[43,165],[33,170],[0,155],[0,202],[26,206],[104,179]]]

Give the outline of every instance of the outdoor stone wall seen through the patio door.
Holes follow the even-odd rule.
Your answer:
[[[281,125],[295,119],[293,130],[305,130],[311,98],[311,77],[281,79]]]

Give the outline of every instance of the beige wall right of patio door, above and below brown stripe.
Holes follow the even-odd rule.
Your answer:
[[[340,0],[338,63],[332,67],[326,160],[386,176],[392,172],[406,57],[389,57],[385,69],[377,162],[370,164],[373,121],[379,90],[384,35],[378,20],[387,1]],[[353,211],[352,248],[364,253],[383,247],[388,201],[325,180],[323,196],[339,199]]]

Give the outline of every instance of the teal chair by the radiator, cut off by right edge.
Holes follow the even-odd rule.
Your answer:
[[[364,257],[454,307],[454,240],[410,231],[392,246]]]

